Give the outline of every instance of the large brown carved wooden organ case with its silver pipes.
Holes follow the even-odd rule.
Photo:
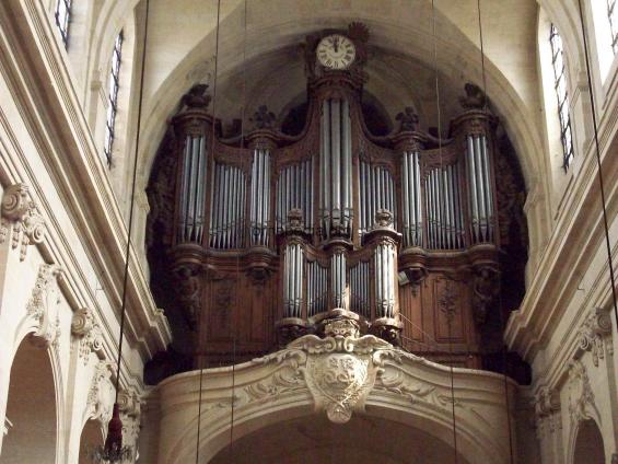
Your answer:
[[[520,298],[501,282],[522,287],[526,259],[512,149],[473,84],[447,139],[419,130],[410,107],[397,130],[372,135],[366,28],[335,32],[355,46],[345,69],[316,53],[333,34],[304,44],[296,136],[261,106],[250,131],[223,139],[207,86],[183,97],[148,188],[158,303],[194,368],[260,356],[333,317],[436,361],[492,368]]]

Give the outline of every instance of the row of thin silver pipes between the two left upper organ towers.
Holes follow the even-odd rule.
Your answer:
[[[213,248],[244,246],[245,182],[245,173],[240,167],[214,164],[210,208],[210,246]]]

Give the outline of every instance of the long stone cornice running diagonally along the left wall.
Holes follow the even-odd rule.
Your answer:
[[[2,2],[0,72],[11,86],[26,129],[83,239],[112,306],[119,308],[127,231],[48,16],[40,0]],[[7,120],[0,124],[10,130]],[[54,211],[40,195],[42,187],[28,156],[21,153],[18,164],[30,177],[28,183],[34,187],[32,195],[37,197],[47,217],[48,235],[53,235],[46,243],[50,253],[60,257],[58,260],[67,270],[68,279],[85,279],[60,224],[54,219]],[[165,349],[172,335],[166,318],[156,310],[135,251],[131,257],[127,336],[137,344],[142,358],[148,359]],[[96,304],[92,292],[88,298]],[[109,329],[108,324],[105,328]]]

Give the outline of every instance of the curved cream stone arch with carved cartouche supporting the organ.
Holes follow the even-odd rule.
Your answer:
[[[288,420],[323,420],[324,413],[342,427],[352,417],[375,418],[454,446],[453,401],[462,457],[469,464],[509,462],[510,403],[503,376],[451,370],[393,350],[372,336],[338,337],[310,335],[282,351],[234,368],[185,372],[164,380],[156,390],[161,408],[159,464],[195,460],[198,424],[200,460],[208,462],[229,445],[232,431],[238,440]],[[346,372],[354,372],[351,378],[337,376],[341,366]],[[208,379],[201,395],[200,376]],[[346,399],[336,399],[338,388],[352,378],[363,379],[362,384],[349,386]],[[506,386],[512,396],[513,383],[509,381]]]

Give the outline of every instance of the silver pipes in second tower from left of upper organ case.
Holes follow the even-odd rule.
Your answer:
[[[252,246],[268,246],[270,223],[270,150],[255,149],[252,164],[249,209]]]

